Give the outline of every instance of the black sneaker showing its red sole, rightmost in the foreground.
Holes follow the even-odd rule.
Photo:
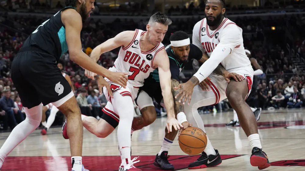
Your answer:
[[[258,169],[266,169],[270,166],[268,156],[261,148],[254,147],[252,149],[252,155],[250,157],[250,163],[252,166],[258,166]]]

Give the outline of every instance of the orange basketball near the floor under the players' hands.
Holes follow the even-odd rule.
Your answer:
[[[206,134],[197,127],[188,127],[179,136],[179,146],[188,155],[197,155],[206,148]]]

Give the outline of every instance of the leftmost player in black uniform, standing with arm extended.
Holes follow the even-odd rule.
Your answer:
[[[70,59],[82,68],[107,77],[122,86],[127,84],[127,76],[124,73],[110,72],[81,51],[82,21],[90,16],[94,9],[93,3],[94,0],[65,0],[67,7],[38,26],[14,58],[11,77],[24,106],[26,120],[13,129],[2,145],[0,168],[7,155],[39,126],[42,116],[41,103],[43,105],[52,103],[67,118],[72,170],[86,170],[81,158],[83,143],[81,113],[74,93],[57,67],[57,62],[61,55],[69,50]],[[99,83],[110,90],[109,84],[102,77],[99,77]]]

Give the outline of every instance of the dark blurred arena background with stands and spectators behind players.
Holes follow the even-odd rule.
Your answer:
[[[146,30],[149,16],[155,11],[165,12],[173,20],[162,42],[165,46],[175,31],[183,30],[192,37],[193,26],[205,17],[204,2],[96,0],[93,15],[83,24],[82,50],[90,55],[94,47],[124,30]],[[305,1],[226,0],[226,3],[227,17],[243,29],[244,46],[264,72],[257,76],[257,96],[251,99],[250,106],[266,110],[302,107],[305,103]],[[18,92],[10,79],[14,56],[28,35],[63,6],[63,1],[52,0],[0,3],[0,130],[13,129],[25,119]],[[119,48],[102,54],[98,64],[112,67],[118,52]],[[102,113],[92,106],[103,108],[107,100],[99,94],[96,81],[84,76],[84,70],[70,61],[69,53],[61,59],[63,72],[70,75],[74,84],[77,101],[85,108],[82,113],[99,119]],[[193,73],[192,68],[186,67],[181,80],[186,81]],[[158,115],[166,115],[158,105],[156,110]],[[230,105],[224,100],[199,110],[200,113],[220,112],[230,110]],[[136,106],[135,113],[139,113]],[[58,114],[56,120],[54,125],[62,124],[63,117]]]

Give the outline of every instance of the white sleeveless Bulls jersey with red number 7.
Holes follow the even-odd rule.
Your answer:
[[[164,49],[162,43],[148,52],[141,51],[140,38],[146,33],[143,30],[135,30],[135,36],[127,47],[121,47],[118,58],[114,62],[115,68],[120,72],[129,73],[128,82],[134,87],[143,86],[144,79],[156,68],[152,62],[156,54]]]

